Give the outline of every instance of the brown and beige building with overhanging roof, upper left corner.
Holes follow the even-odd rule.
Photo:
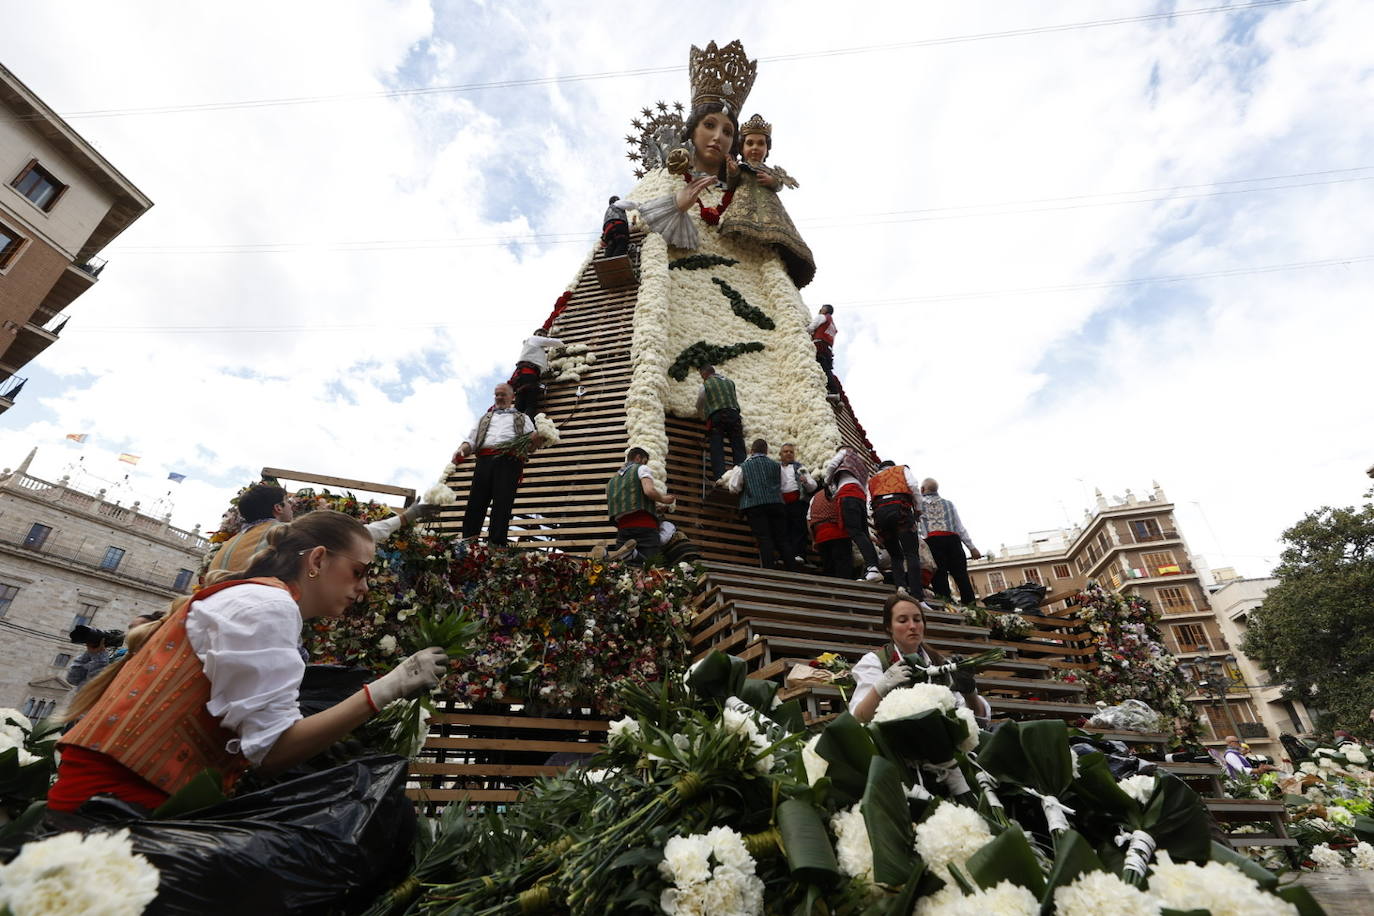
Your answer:
[[[0,413],[23,389],[23,367],[56,343],[67,306],[100,279],[100,251],[151,206],[0,66]]]

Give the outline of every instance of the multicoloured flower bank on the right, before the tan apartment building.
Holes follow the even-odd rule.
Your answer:
[[[1173,721],[1176,743],[1197,743],[1197,713],[1187,702],[1178,659],[1164,648],[1158,611],[1143,597],[1123,596],[1096,582],[1088,582],[1076,602],[1094,636],[1096,665],[1059,677],[1084,683],[1091,703],[1140,700]]]

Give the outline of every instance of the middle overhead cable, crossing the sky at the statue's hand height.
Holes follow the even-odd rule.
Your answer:
[[[1037,198],[1029,201],[1007,201],[1002,203],[969,203],[949,207],[923,207],[918,210],[885,210],[868,214],[851,214],[845,217],[819,217],[798,220],[801,227],[813,229],[846,228],[859,222],[877,222],[879,225],[893,225],[900,222],[926,222],[937,220],[966,220],[991,216],[1015,216],[1022,213],[1041,213],[1054,210],[1079,210],[1102,206],[1121,206],[1129,203],[1160,203],[1167,201],[1197,201],[1205,198],[1232,196],[1238,194],[1252,194],[1256,191],[1289,191],[1296,188],[1312,188],[1327,184],[1345,184],[1352,181],[1370,181],[1374,176],[1353,174],[1374,170],[1374,166],[1355,166],[1348,169],[1322,169],[1316,172],[1294,172],[1289,174],[1275,174],[1259,179],[1226,179],[1206,184],[1180,184],[1162,188],[1142,188],[1136,191],[1105,191],[1102,194],[1076,194],[1062,198]],[[1340,176],[1322,181],[1303,181],[1294,184],[1272,184],[1253,188],[1223,188],[1217,191],[1201,191],[1197,194],[1173,194],[1176,191],[1190,191],[1194,188],[1208,188],[1230,184],[1256,184],[1260,181],[1290,181],[1293,179]],[[1164,194],[1164,196],[1142,198],[1142,194]],[[1127,199],[1101,199],[1127,198]],[[1003,207],[1000,210],[995,207]],[[980,211],[982,210],[982,211]],[[883,218],[893,217],[893,218]],[[447,239],[361,239],[357,242],[247,242],[242,244],[146,244],[126,246],[120,249],[120,254],[284,254],[293,251],[418,251],[429,249],[474,249],[474,247],[504,247],[508,244],[587,244],[596,239],[595,232],[532,232],[528,235],[488,235],[488,236],[451,236]]]

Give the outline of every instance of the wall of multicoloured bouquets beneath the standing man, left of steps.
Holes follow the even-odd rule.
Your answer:
[[[668,676],[686,656],[691,566],[640,570],[539,551],[491,551],[449,534],[400,531],[382,544],[367,597],[315,621],[317,662],[382,672],[433,644],[427,622],[475,623],[442,695],[463,703],[504,698],[614,711],[622,681]]]

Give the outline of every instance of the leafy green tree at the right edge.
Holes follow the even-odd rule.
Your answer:
[[[1374,737],[1374,490],[1283,531],[1279,584],[1250,615],[1246,655],[1320,710],[1322,729]]]

